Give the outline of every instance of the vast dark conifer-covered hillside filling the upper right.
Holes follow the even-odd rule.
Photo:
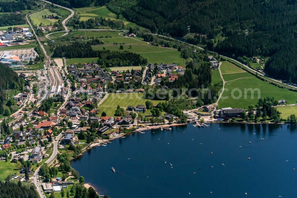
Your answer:
[[[209,50],[234,58],[271,56],[268,74],[297,81],[297,64],[292,64],[297,61],[297,0],[112,0],[107,6],[159,34],[181,37],[189,25],[191,32],[207,36],[191,43],[207,42]]]

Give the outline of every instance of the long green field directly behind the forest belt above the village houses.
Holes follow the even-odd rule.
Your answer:
[[[141,42],[141,41],[139,41]],[[126,43],[126,42],[125,42]],[[142,42],[143,43],[143,42]],[[148,60],[148,63],[176,63],[178,66],[185,66],[186,59],[181,57],[181,53],[174,49],[169,48],[159,48],[155,46],[134,46],[129,48],[129,45],[124,45],[124,49],[120,50],[119,45],[104,46],[106,50],[111,51],[129,51],[133,53],[138,53],[143,58]],[[103,46],[93,46],[93,49],[102,50]]]

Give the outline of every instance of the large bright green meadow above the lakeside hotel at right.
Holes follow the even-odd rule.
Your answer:
[[[222,98],[219,100],[219,109],[225,107],[248,108],[249,105],[257,104],[258,96],[260,98],[265,98],[267,96],[274,97],[276,100],[285,99],[289,104],[296,103],[297,92],[276,87],[268,82],[261,81],[249,73],[244,73],[244,75],[245,78],[226,82],[225,91],[223,92]],[[225,76],[226,74],[223,76],[224,79]],[[229,80],[233,78],[234,76],[232,78],[226,77],[226,79]],[[255,90],[253,94],[254,98],[252,98],[251,91],[246,91],[246,93],[244,91],[245,89],[250,88]],[[259,91],[256,91],[256,89]],[[236,99],[236,97],[239,97],[240,95],[239,91],[242,93],[242,96],[239,99]],[[232,92],[235,97],[232,97]]]

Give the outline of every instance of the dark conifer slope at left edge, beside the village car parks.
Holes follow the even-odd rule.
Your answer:
[[[18,74],[12,69],[0,63],[0,115],[7,115],[8,108],[4,109],[4,102],[7,101],[6,91],[14,89],[23,91],[24,79],[19,78]],[[12,101],[11,101],[12,100]],[[12,106],[13,99],[7,101],[6,106]],[[10,112],[10,111],[9,111]]]

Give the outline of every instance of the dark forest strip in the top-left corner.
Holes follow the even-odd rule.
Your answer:
[[[0,1],[0,12],[34,10],[37,4],[32,0]]]

